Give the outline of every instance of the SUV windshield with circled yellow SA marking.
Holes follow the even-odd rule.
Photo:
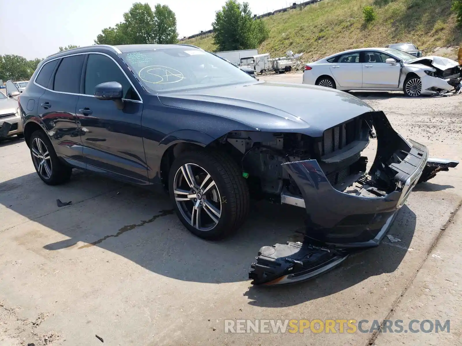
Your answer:
[[[255,83],[255,79],[241,69],[197,48],[143,50],[121,56],[152,93]]]

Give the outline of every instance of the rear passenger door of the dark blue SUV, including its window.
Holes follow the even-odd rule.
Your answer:
[[[85,55],[77,54],[59,60],[54,76],[38,101],[37,111],[56,153],[79,167],[85,166],[79,164],[82,161],[82,142],[75,107],[79,100],[84,58]],[[44,65],[42,70],[45,67],[51,69],[52,66],[47,65],[52,62]],[[36,83],[40,83],[38,79]]]

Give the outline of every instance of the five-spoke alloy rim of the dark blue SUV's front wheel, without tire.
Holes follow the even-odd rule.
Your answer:
[[[173,188],[176,206],[191,226],[207,232],[218,225],[220,192],[204,168],[195,163],[185,163],[176,171]]]

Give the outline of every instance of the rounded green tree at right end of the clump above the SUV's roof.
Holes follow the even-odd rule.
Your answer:
[[[155,42],[171,44],[178,42],[175,13],[167,5],[157,4],[154,9]]]

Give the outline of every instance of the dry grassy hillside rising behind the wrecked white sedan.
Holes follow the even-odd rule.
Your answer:
[[[366,5],[375,6],[377,12],[377,19],[368,25],[362,14]],[[413,42],[426,50],[458,46],[462,30],[450,7],[451,0],[324,0],[265,18],[271,32],[259,53],[283,56],[291,49],[312,61],[346,49],[394,42]],[[216,49],[212,35],[182,43]]]

